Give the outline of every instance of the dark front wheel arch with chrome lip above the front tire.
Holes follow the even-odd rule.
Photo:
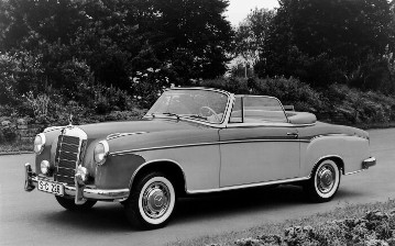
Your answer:
[[[131,190],[133,185],[144,175],[153,171],[160,171],[167,175],[174,183],[176,192],[180,195],[186,194],[186,177],[180,165],[171,159],[155,159],[142,164],[132,175],[129,189]]]

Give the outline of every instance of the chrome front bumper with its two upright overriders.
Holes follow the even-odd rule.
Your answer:
[[[24,190],[32,191],[35,189],[39,182],[39,176],[33,172],[31,165],[28,163],[24,165],[25,169],[25,180],[24,180]],[[51,179],[40,177],[41,180],[52,181]],[[86,187],[80,175],[75,176],[75,186],[69,186],[63,183],[64,194],[67,197],[74,197],[76,204],[84,203],[87,199],[98,200],[98,201],[124,201],[128,199],[130,190],[129,189],[96,189],[91,187]]]

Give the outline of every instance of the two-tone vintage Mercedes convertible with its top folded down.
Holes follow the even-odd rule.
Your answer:
[[[326,202],[341,176],[376,164],[362,130],[284,111],[273,97],[208,88],[168,89],[141,121],[48,127],[34,152],[26,191],[72,211],[121,202],[145,230],[164,226],[189,194],[294,183]]]

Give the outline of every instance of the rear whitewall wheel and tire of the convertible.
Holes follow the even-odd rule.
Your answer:
[[[331,159],[322,160],[314,170],[312,177],[304,186],[312,202],[330,201],[340,186],[340,170]]]

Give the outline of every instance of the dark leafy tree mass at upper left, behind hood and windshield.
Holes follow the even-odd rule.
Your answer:
[[[78,64],[95,82],[122,89],[150,67],[188,85],[226,71],[232,38],[222,15],[227,5],[227,0],[0,1],[0,52],[40,57],[42,81],[54,89],[75,88],[66,78],[83,78],[70,76],[73,69],[80,74]]]

